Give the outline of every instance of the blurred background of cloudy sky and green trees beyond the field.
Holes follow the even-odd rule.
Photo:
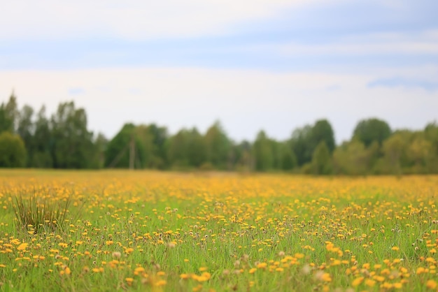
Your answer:
[[[438,2],[0,3],[0,166],[438,173]]]

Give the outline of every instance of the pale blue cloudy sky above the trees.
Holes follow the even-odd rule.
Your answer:
[[[436,0],[0,1],[0,102],[74,101],[112,138],[220,120],[236,141],[328,119],[438,120]]]

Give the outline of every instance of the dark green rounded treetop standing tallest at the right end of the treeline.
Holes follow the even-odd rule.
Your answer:
[[[382,145],[390,135],[391,129],[388,123],[376,118],[362,119],[353,131],[353,138],[358,138],[365,147],[369,147],[374,141]]]

